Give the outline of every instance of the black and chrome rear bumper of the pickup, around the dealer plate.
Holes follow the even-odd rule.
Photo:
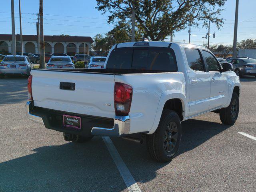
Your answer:
[[[65,127],[63,125],[63,114],[81,117],[81,130]],[[48,129],[77,134],[81,136],[125,136],[130,132],[130,117],[116,116],[114,119],[85,116],[82,114],[73,114],[45,108],[34,107],[32,102],[26,103],[27,117]]]

